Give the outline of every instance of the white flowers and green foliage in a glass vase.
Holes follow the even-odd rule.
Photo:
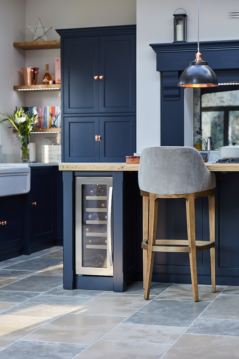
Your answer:
[[[21,162],[29,162],[29,135],[37,122],[36,116],[32,115],[31,112],[25,112],[21,105],[19,110],[16,107],[13,115],[9,113],[3,113],[2,115],[6,118],[1,120],[0,123],[10,121],[18,131],[21,142]]]

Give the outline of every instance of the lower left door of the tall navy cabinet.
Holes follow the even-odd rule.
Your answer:
[[[64,161],[99,162],[99,117],[64,119]]]

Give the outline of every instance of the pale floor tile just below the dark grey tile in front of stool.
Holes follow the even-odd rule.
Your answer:
[[[102,339],[133,341],[135,343],[173,344],[185,329],[185,327],[121,323],[106,333]]]

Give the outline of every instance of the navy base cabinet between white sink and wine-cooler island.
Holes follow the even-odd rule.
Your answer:
[[[24,254],[62,244],[62,177],[57,166],[32,167],[27,195]],[[61,188],[60,188],[61,187]],[[61,208],[61,210],[59,210]],[[58,241],[57,241],[58,240]]]

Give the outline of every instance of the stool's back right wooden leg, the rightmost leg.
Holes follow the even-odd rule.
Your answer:
[[[209,232],[210,242],[215,243],[215,195],[208,197],[209,201]],[[216,292],[216,275],[215,275],[215,244],[210,248],[211,257],[211,280],[212,280],[212,292]]]

